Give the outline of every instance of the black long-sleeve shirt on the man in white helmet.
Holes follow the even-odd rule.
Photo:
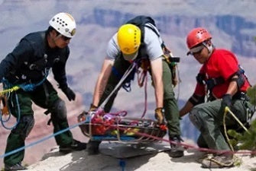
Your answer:
[[[0,63],[0,81],[5,77],[12,84],[36,83],[44,79],[46,69],[52,68],[60,88],[67,87],[65,67],[70,49],[51,49],[46,37],[46,31],[24,36]]]

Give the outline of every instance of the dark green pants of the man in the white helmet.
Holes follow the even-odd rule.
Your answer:
[[[18,101],[16,97],[18,97]],[[34,111],[31,108],[32,101],[37,104],[37,106],[50,110],[54,133],[68,128],[69,125],[66,117],[61,119],[58,117],[58,115],[60,115],[56,110],[58,100],[60,100],[60,97],[58,97],[57,91],[54,90],[49,81],[44,81],[44,84],[36,87],[34,91],[25,92],[24,90],[18,90],[15,93],[11,93],[11,97],[8,98],[8,107],[11,111],[11,115],[17,118],[18,114],[20,114],[21,119],[16,128],[12,129],[8,136],[5,153],[19,147],[24,147],[24,141],[34,125]],[[18,107],[20,108],[19,111]],[[66,108],[66,106],[63,107]],[[55,140],[58,145],[67,145],[72,143],[73,136],[70,131],[66,131],[57,135]],[[4,163],[11,166],[20,163],[23,159],[24,150],[21,150],[5,157]]]

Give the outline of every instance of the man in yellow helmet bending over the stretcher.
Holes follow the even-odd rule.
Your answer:
[[[153,20],[153,19],[151,19]],[[142,27],[134,24],[124,24],[109,40],[107,56],[102,65],[90,111],[101,105],[115,85],[120,81],[118,75],[123,75],[132,62],[147,59],[150,62],[151,77],[154,82],[156,109],[155,116],[159,124],[164,123],[164,114],[169,128],[170,141],[180,143],[180,120],[177,101],[172,87],[170,67],[164,60],[163,41],[154,24],[147,23]],[[118,73],[118,74],[117,74]],[[117,92],[105,104],[105,112],[109,112]],[[89,141],[89,154],[99,151],[100,141]],[[171,144],[170,156],[182,157],[183,149]]]

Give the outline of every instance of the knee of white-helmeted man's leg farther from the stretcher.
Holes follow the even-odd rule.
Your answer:
[[[18,125],[11,130],[13,134],[21,135],[21,138],[28,137],[29,133],[31,132],[32,128],[34,127],[34,116],[21,116]]]

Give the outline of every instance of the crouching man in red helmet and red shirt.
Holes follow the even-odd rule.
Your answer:
[[[242,123],[247,122],[247,109],[251,113],[253,111],[246,96],[250,84],[235,55],[226,49],[215,49],[211,39],[210,33],[202,27],[191,30],[186,38],[190,49],[187,55],[193,55],[203,66],[196,76],[196,89],[180,110],[180,116],[190,112],[191,122],[201,133],[197,141],[199,147],[218,151],[212,158],[203,160],[202,166],[231,167],[234,166],[233,155],[223,151],[230,150],[222,135],[224,111],[228,106]],[[205,97],[207,103],[204,103]],[[231,115],[227,115],[226,125],[238,123]]]

